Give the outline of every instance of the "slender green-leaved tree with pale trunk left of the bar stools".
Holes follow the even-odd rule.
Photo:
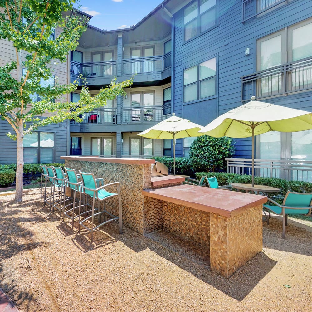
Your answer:
[[[16,195],[22,201],[23,138],[40,126],[59,123],[65,119],[79,119],[79,114],[106,104],[124,93],[132,80],[118,83],[91,97],[82,87],[80,101],[70,103],[64,96],[77,87],[77,81],[61,85],[42,84],[51,79],[55,63],[65,62],[69,51],[76,49],[86,30],[85,18],[73,9],[75,0],[0,0],[0,39],[12,42],[15,60],[0,67],[0,116],[14,130],[7,135],[17,142]],[[51,32],[61,27],[55,39]],[[34,96],[40,101],[34,102]],[[38,98],[39,97],[39,98]],[[45,113],[51,117],[40,118]],[[26,127],[27,123],[27,127]]]

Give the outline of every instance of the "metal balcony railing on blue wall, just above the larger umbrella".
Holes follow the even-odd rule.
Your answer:
[[[241,77],[241,101],[312,90],[312,59],[275,66]]]

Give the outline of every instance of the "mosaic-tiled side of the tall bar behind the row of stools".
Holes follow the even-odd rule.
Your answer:
[[[130,229],[143,234],[143,194],[142,190],[151,188],[151,165],[135,165],[120,163],[90,162],[65,160],[65,166],[83,172],[93,172],[97,178],[103,178],[104,184],[120,182],[122,198],[123,224]],[[115,188],[116,189],[116,188]],[[107,188],[115,192],[114,187]],[[116,199],[106,202],[107,211],[118,216]]]

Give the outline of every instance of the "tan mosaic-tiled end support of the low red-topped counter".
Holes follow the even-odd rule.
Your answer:
[[[234,217],[210,217],[211,270],[229,278],[262,251],[262,205]]]

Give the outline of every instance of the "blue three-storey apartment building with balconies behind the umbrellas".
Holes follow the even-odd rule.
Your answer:
[[[82,122],[49,127],[53,160],[170,156],[171,140],[137,134],[172,112],[205,126],[252,95],[312,111],[311,33],[312,0],[165,0],[138,24],[113,31],[93,27],[91,18],[63,73],[71,81],[81,73],[93,94],[115,77],[135,75],[134,83]],[[69,95],[73,102],[82,83]],[[187,156],[192,140],[178,139],[176,156]],[[236,139],[236,156],[251,157],[251,139]],[[312,160],[312,131],[261,134],[256,158]]]

